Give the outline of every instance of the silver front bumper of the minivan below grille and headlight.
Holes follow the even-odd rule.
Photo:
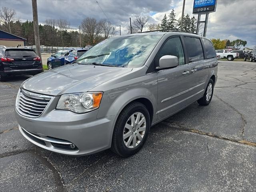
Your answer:
[[[16,119],[21,134],[41,148],[60,154],[82,156],[111,147],[114,116],[97,119],[98,110],[75,114],[63,110],[47,110],[38,118]],[[71,148],[70,144],[75,147]]]

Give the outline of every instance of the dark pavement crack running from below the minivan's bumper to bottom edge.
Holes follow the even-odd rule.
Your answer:
[[[50,155],[48,157],[42,156],[42,154],[40,153],[39,150],[34,150],[34,152],[31,152],[33,156],[35,156],[38,160],[41,161],[41,163],[48,167],[54,176],[54,181],[56,183],[57,186],[57,192],[66,192],[66,188],[65,188],[65,184],[64,181],[62,180],[62,176],[60,174],[60,172],[58,172],[58,170],[56,169],[56,167],[53,166],[53,164],[49,161],[50,156],[52,155],[52,152],[50,153]]]

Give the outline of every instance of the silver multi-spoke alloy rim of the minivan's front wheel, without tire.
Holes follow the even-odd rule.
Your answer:
[[[132,114],[125,126],[123,132],[124,144],[128,148],[135,148],[140,144],[146,131],[146,118],[140,112]]]

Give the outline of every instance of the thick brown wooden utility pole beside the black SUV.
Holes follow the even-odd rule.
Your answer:
[[[37,2],[36,2],[36,0],[32,0],[32,10],[33,10],[33,24],[34,24],[34,33],[35,33],[35,42],[36,42],[36,54],[42,60],[41,49],[40,49],[40,36],[39,36]]]

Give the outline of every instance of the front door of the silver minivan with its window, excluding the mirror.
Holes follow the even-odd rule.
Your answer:
[[[156,66],[159,66],[159,59],[164,55],[177,56],[179,65],[157,72],[158,120],[186,106],[190,84],[188,65],[185,64],[184,51],[179,36],[166,40],[155,58]]]

